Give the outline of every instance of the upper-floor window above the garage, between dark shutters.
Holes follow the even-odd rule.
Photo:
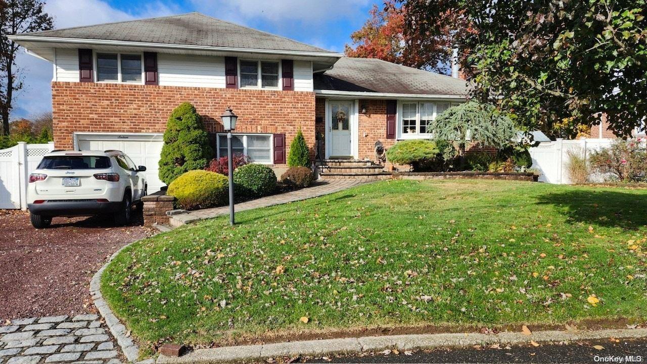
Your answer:
[[[142,82],[140,54],[97,53],[96,80],[100,82]]]

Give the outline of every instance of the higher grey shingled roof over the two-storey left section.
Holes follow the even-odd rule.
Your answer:
[[[215,19],[198,12],[85,27],[44,30],[12,37],[42,37],[43,40],[47,38],[94,39],[160,45],[336,54],[323,48]]]

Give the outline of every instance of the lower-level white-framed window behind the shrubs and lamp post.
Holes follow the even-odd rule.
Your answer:
[[[272,134],[233,134],[232,153],[248,156],[252,162],[272,163]],[[227,156],[227,135],[218,134],[218,158]]]

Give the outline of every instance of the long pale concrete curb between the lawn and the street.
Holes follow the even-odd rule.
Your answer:
[[[225,361],[262,360],[283,356],[322,356],[324,354],[360,354],[387,348],[417,350],[423,348],[470,347],[472,345],[510,344],[535,342],[578,341],[585,339],[633,339],[647,337],[647,328],[606,329],[595,331],[565,332],[538,331],[531,335],[521,332],[499,334],[416,334],[393,336],[365,336],[345,339],[294,341],[268,345],[247,345],[198,349],[179,358],[160,355],[157,363],[222,363]]]

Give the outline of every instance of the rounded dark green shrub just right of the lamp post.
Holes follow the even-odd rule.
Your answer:
[[[234,186],[243,196],[269,195],[276,189],[276,175],[263,164],[245,164],[234,170]]]

